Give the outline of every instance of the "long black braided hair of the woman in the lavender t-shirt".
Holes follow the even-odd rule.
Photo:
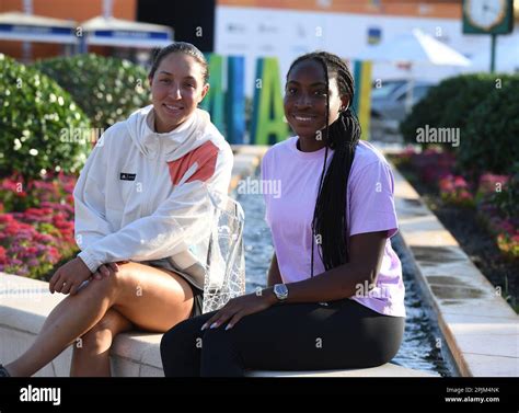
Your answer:
[[[324,71],[326,91],[330,90],[330,78],[336,77],[341,96],[347,96],[353,102],[354,78],[338,56],[326,51],[314,51],[297,58],[287,73],[303,60],[319,61]],[[351,108],[341,111],[338,118],[328,126],[330,93],[326,93],[326,124],[324,127],[324,163],[319,184],[318,199],[312,219],[312,268],[313,276],[313,244],[318,241],[318,251],[326,271],[349,261],[348,254],[348,222],[346,221],[347,183],[355,149],[360,139],[360,125]],[[318,131],[318,134],[321,131]],[[333,159],[326,170],[328,149],[333,149]]]

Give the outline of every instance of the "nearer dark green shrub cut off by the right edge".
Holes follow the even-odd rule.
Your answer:
[[[473,176],[484,171],[510,173],[519,159],[519,76],[503,80],[500,89],[466,114],[457,164]]]

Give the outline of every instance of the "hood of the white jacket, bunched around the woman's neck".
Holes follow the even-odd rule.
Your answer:
[[[150,159],[164,153],[165,161],[175,161],[215,137],[210,131],[217,130],[210,116],[200,108],[177,128],[170,133],[159,134],[154,130],[153,105],[134,112],[126,121],[131,140],[140,152]],[[217,130],[218,131],[218,130]],[[216,134],[220,136],[219,133]]]

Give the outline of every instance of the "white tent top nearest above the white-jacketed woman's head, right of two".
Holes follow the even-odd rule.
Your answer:
[[[79,26],[83,32],[83,51],[89,45],[114,47],[163,47],[173,42],[169,26],[97,16]]]

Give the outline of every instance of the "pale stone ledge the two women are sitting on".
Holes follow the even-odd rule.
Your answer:
[[[31,295],[24,291],[32,291]],[[28,348],[45,319],[66,296],[50,294],[48,284],[0,273],[0,360],[9,363]],[[115,377],[163,377],[160,358],[162,334],[129,332],[119,334],[112,347]],[[67,377],[71,347],[61,353],[36,377]],[[326,371],[251,371],[250,377],[431,377],[430,374],[387,364],[384,366]]]

